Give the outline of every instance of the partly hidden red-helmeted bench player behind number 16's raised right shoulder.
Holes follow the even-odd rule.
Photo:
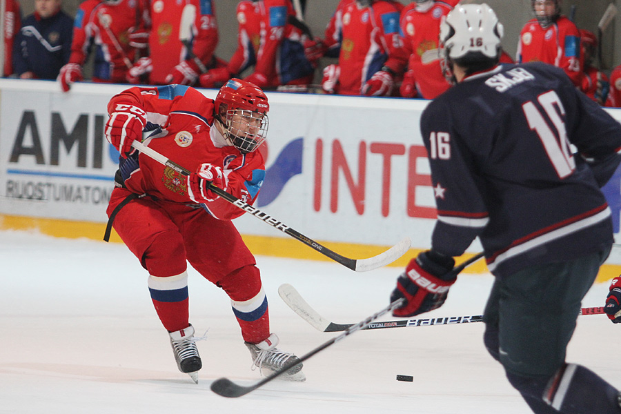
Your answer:
[[[589,30],[580,30],[580,46],[584,55],[584,77],[580,90],[601,106],[611,106],[608,99],[610,81],[606,74],[593,65],[598,50],[598,38]]]

